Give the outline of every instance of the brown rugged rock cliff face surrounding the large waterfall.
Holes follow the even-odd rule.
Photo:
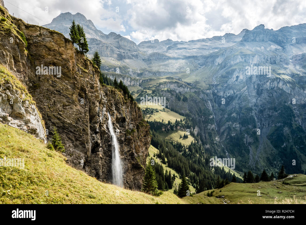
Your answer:
[[[0,42],[0,62],[26,86],[52,137],[56,127],[65,145],[64,155],[73,167],[100,181],[111,182],[110,112],[120,143],[124,186],[140,189],[151,137],[136,103],[122,92],[101,86],[99,71],[61,33],[7,18]],[[12,29],[13,28],[13,29]],[[28,43],[21,40],[23,32]],[[16,33],[16,34],[15,34]],[[13,43],[10,43],[13,37]],[[36,67],[61,67],[60,75],[37,74]]]

